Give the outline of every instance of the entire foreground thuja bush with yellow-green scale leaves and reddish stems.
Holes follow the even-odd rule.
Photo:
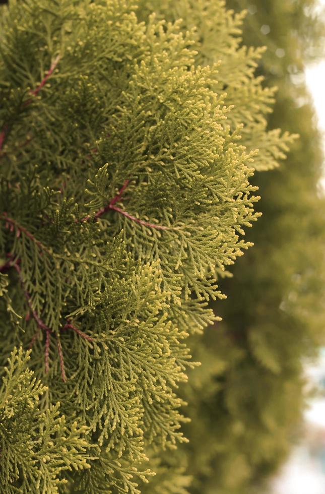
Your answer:
[[[113,0],[0,11],[5,492],[139,492],[156,467],[161,491],[189,484],[159,458],[185,441],[184,340],[250,245],[253,166],[292,137],[267,130],[274,90],[241,16],[181,4],[170,20]]]

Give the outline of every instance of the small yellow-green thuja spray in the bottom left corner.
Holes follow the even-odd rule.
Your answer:
[[[67,422],[59,403],[43,412],[47,388],[26,368],[30,351],[14,348],[0,389],[0,482],[4,494],[59,492],[65,471],[89,468],[87,427]]]

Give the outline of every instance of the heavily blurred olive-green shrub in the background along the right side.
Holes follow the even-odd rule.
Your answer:
[[[303,366],[324,342],[323,152],[303,77],[319,53],[323,19],[313,17],[312,0],[227,5],[248,9],[244,42],[268,47],[257,72],[279,87],[269,128],[300,138],[280,168],[252,178],[263,216],[247,234],[254,247],[231,269],[234,279],[220,281],[223,321],[191,342],[202,366],[183,389],[191,423],[177,468],[192,475],[195,494],[266,494],[299,437]],[[177,478],[166,456],[168,466]]]

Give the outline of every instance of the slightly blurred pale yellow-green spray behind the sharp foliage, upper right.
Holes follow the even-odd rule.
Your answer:
[[[255,169],[277,167],[294,136],[286,132],[280,137],[279,129],[267,129],[267,115],[272,111],[276,88],[263,85],[263,78],[254,75],[265,47],[241,46],[244,12],[234,15],[225,8],[223,0],[141,0],[141,6],[141,18],[153,11],[171,21],[182,19],[184,32],[194,29],[196,65],[217,64],[213,88],[223,95],[227,106],[233,105],[228,125],[232,130],[242,126],[241,143],[249,151],[258,149]]]

